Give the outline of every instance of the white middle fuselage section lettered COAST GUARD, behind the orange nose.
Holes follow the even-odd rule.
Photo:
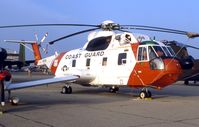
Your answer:
[[[128,33],[131,41],[127,42],[123,39],[125,34],[117,35],[110,31],[91,33],[82,49],[71,50],[54,60],[55,75],[79,75],[78,82],[81,84],[127,85],[136,64],[131,43],[137,43],[137,40]],[[88,48],[91,40],[98,37],[110,37],[107,47],[95,49],[91,45]]]

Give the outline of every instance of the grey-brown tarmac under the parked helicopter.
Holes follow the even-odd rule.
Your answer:
[[[14,81],[46,78],[17,73]],[[17,106],[6,104],[0,127],[198,127],[199,84],[177,82],[163,90],[150,89],[153,98],[141,100],[139,89],[106,88],[73,84],[72,94],[60,94],[64,84],[13,91]]]

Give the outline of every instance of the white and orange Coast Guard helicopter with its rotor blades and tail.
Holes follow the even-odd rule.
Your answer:
[[[84,86],[108,87],[110,92],[116,92],[119,87],[123,86],[142,88],[140,98],[148,98],[152,96],[148,88],[161,89],[171,85],[178,80],[183,69],[192,66],[187,60],[179,61],[170,46],[153,40],[147,35],[135,34],[127,30],[149,30],[182,34],[189,38],[199,37],[198,33],[151,26],[119,25],[109,20],[100,25],[33,24],[0,26],[0,28],[30,26],[86,26],[92,28],[49,42],[53,44],[74,35],[91,32],[82,48],[56,53],[43,59],[39,50],[40,44],[37,41],[23,41],[23,43],[32,45],[35,64],[46,65],[55,76],[22,83],[11,83],[10,79],[4,83],[4,90],[8,91],[9,99],[11,99],[12,90],[56,82],[66,83],[62,88],[62,93],[65,94],[72,93],[71,84],[77,83]],[[11,101],[18,103],[14,99]]]

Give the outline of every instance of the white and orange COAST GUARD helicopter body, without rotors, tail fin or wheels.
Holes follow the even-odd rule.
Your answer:
[[[82,85],[160,89],[174,83],[181,74],[181,66],[171,49],[146,37],[148,41],[142,41],[146,44],[137,40],[130,33],[92,33],[83,48],[51,57],[49,68],[55,76],[78,75],[80,78],[75,82]]]

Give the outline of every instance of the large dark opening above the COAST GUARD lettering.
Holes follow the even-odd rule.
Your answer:
[[[111,39],[112,36],[95,38],[89,42],[89,44],[86,47],[86,50],[88,51],[105,50],[109,46]]]

